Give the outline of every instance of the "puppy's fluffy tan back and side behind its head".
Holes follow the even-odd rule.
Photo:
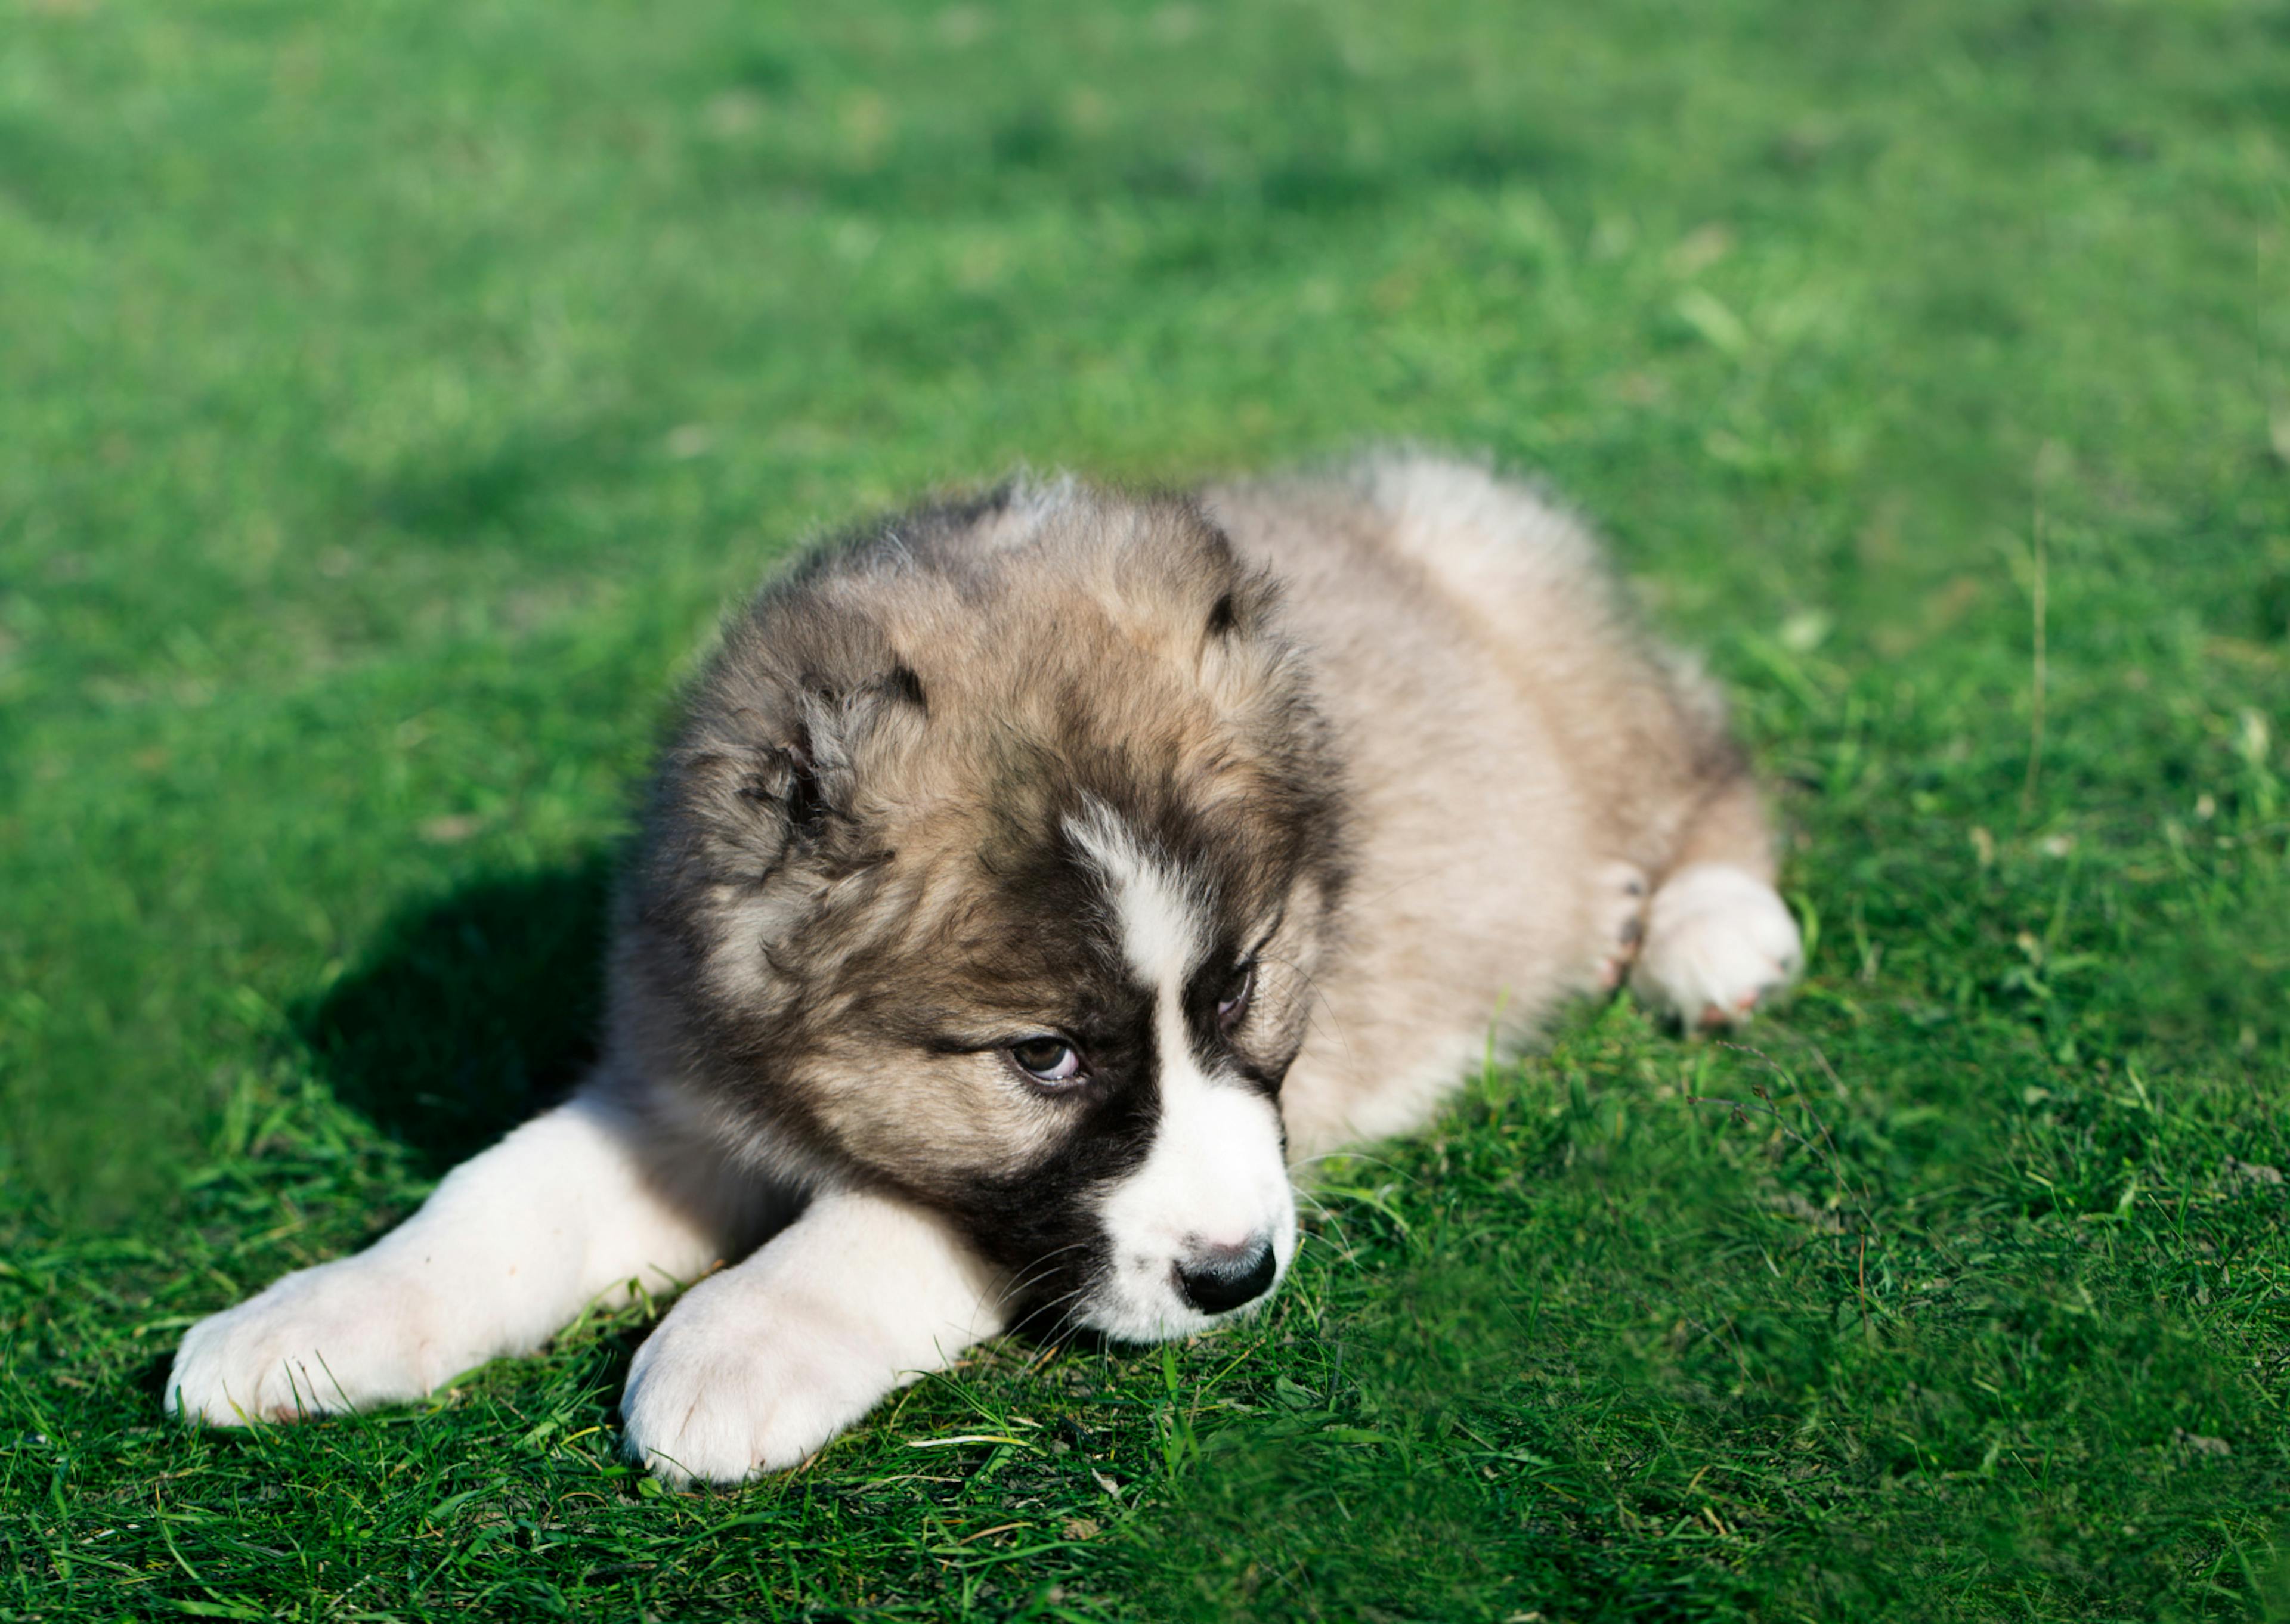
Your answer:
[[[1411,454],[1207,492],[1273,568],[1353,793],[1340,969],[1287,1086],[1298,1154],[1418,1125],[1488,1022],[1598,980],[1612,875],[1658,880],[1740,779],[1722,705],[1537,490]]]

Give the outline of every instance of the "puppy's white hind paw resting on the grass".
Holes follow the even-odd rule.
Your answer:
[[[1685,1026],[1729,1026],[1802,962],[1798,921],[1770,884],[1729,864],[1692,864],[1653,893],[1630,990]]]

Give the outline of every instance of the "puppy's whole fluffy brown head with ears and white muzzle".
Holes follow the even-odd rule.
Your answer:
[[[1340,806],[1276,591],[1193,506],[911,513],[701,678],[623,1017],[763,1157],[948,1214],[1014,1306],[1193,1331],[1296,1248],[1280,1083]]]

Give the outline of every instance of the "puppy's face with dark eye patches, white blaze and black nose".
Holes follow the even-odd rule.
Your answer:
[[[845,985],[804,1077],[838,1148],[953,1214],[1056,1322],[1152,1340],[1296,1251],[1280,1081],[1324,898],[1232,829],[1081,795],[948,925]],[[927,907],[927,905],[925,905]]]

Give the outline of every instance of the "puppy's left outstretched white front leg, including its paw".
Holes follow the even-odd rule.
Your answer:
[[[529,1354],[630,1283],[696,1278],[756,1207],[721,1161],[591,1083],[458,1166],[366,1251],[195,1324],[167,1411],[231,1427],[421,1397]]]

